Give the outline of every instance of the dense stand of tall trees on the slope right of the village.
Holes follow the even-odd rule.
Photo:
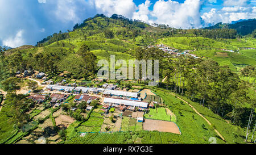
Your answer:
[[[165,61],[166,89],[186,95],[237,125],[246,125],[250,112],[256,107],[252,83],[242,81],[228,66],[220,66],[213,60],[182,55],[166,57]],[[255,76],[253,66],[241,72],[244,76]]]

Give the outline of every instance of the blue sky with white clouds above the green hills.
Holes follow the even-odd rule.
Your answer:
[[[0,45],[35,45],[96,14],[201,28],[256,18],[256,0],[0,0]]]

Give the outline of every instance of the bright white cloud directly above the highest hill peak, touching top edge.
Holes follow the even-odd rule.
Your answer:
[[[133,17],[136,5],[133,0],[94,0],[96,10],[100,14],[111,16],[119,14],[127,18]]]

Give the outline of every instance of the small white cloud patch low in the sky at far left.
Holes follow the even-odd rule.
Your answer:
[[[15,48],[24,45],[25,41],[23,39],[23,30],[19,30],[14,37],[9,37],[3,40],[3,45]]]

